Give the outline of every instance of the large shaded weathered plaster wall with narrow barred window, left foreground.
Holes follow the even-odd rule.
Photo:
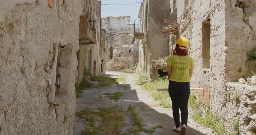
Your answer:
[[[80,1],[0,1],[2,135],[72,135]],[[58,48],[58,46],[64,48]],[[55,94],[57,52],[61,84]]]

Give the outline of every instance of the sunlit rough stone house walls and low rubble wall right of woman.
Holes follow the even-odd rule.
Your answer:
[[[255,108],[252,98],[255,96],[255,87],[226,84],[240,77],[247,77],[246,53],[256,47],[253,35],[256,25],[253,23],[255,1],[206,0],[202,3],[200,0],[189,0],[187,2],[178,0],[177,17],[190,10],[187,15],[189,21],[181,26],[177,35],[170,36],[170,50],[174,48],[178,37],[187,37],[190,41],[189,54],[195,60],[194,75],[190,85],[203,88],[199,99],[218,114],[228,132],[235,132],[233,121],[239,117],[241,135],[250,131],[256,132],[253,126],[255,119],[251,118],[255,112],[246,111]],[[236,7],[237,2],[242,8]],[[239,103],[230,100],[234,92],[240,98]]]

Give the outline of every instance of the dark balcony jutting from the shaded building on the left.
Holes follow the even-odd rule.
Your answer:
[[[80,16],[79,23],[79,45],[91,45],[96,43],[96,24],[95,20],[87,13]]]

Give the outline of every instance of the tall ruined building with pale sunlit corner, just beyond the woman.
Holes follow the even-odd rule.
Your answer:
[[[161,3],[161,4],[159,4]],[[155,61],[168,56],[169,38],[161,30],[164,27],[164,15],[170,9],[170,0],[143,0],[139,11],[139,31],[135,38],[141,39],[139,54],[139,71],[148,75],[148,80],[156,80],[158,72],[166,72]]]

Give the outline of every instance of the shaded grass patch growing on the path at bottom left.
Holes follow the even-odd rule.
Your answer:
[[[101,133],[103,135],[124,135],[121,132],[124,125],[124,116],[121,107],[99,107],[98,110],[98,112],[94,112],[89,108],[85,108],[75,113],[87,121],[87,126],[81,135],[100,135]],[[95,123],[98,123],[98,125]]]

